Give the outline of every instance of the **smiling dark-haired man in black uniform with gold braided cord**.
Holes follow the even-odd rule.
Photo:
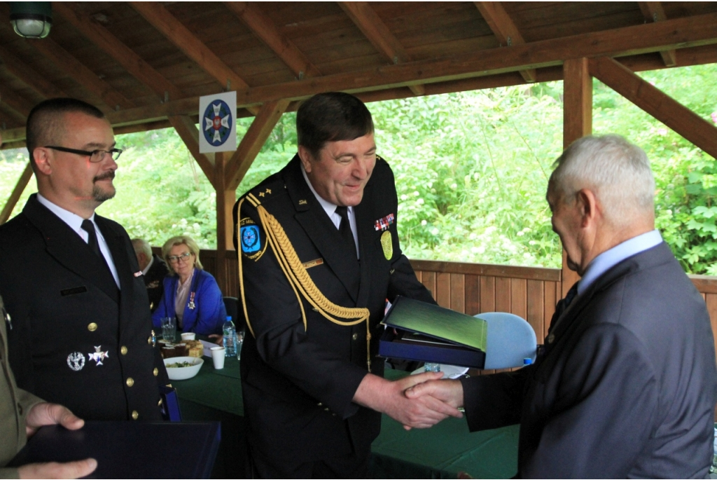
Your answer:
[[[411,426],[460,413],[404,397],[440,374],[389,382],[376,358],[386,298],[433,299],[399,248],[394,177],[376,156],[371,113],[346,93],[315,95],[297,131],[298,155],[234,207],[252,473],[359,478],[379,412]]]

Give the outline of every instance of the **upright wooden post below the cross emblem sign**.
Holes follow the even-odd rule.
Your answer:
[[[227,188],[226,166],[231,152],[214,154],[214,187],[217,189],[217,283],[224,296],[236,296],[229,291],[227,250],[234,250],[232,241],[232,207],[237,200],[236,189]]]

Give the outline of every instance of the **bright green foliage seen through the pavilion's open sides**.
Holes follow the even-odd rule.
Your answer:
[[[641,74],[717,123],[717,65]],[[394,170],[402,248],[410,258],[559,267],[544,196],[562,151],[562,84],[521,85],[371,103],[379,154]],[[241,138],[252,119],[237,121]],[[239,185],[243,194],[296,151],[295,114],[272,132]],[[717,274],[717,167],[662,123],[594,80],[593,130],[647,151],[657,181],[657,227],[689,273]],[[716,131],[717,133],[717,131]],[[187,233],[216,246],[216,197],[172,129],[118,136],[118,194],[100,215],[161,245]],[[0,202],[27,151],[0,151]],[[35,189],[31,181],[13,215]]]

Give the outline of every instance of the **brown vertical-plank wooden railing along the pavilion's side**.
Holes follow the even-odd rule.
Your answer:
[[[217,250],[201,250],[201,263],[216,276]],[[526,319],[538,343],[547,335],[555,305],[561,298],[559,268],[515,267],[485,263],[411,260],[419,281],[440,306],[475,315],[484,311],[508,311]],[[227,284],[224,295],[237,296],[237,253],[227,252]],[[717,277],[690,275],[707,303],[712,331],[717,338]],[[717,342],[716,342],[717,349]]]

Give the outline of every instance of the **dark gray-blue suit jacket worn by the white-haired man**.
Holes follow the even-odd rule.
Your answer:
[[[520,422],[518,476],[706,478],[712,329],[668,245],[614,265],[556,316],[535,364],[463,380],[470,429]]]

